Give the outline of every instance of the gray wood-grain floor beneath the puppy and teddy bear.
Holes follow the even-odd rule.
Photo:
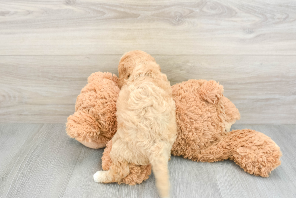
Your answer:
[[[232,161],[169,161],[171,197],[295,197],[296,126],[233,125],[270,136],[283,153],[270,177]],[[158,197],[153,174],[136,186],[95,183],[103,149],[68,138],[63,124],[0,124],[0,197]]]

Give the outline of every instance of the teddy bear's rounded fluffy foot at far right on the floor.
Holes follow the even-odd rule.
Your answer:
[[[243,129],[227,133],[233,149],[231,159],[249,174],[268,177],[281,164],[282,153],[271,138],[258,131]]]

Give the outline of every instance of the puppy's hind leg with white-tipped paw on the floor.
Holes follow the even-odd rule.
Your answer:
[[[97,171],[93,178],[98,183],[121,183],[129,173],[130,168],[127,161],[113,160],[109,170]]]

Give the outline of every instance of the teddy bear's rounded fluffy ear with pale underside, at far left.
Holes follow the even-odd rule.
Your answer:
[[[76,111],[70,115],[66,123],[67,134],[89,148],[104,148],[109,141],[100,137],[99,123],[93,115],[85,110]]]

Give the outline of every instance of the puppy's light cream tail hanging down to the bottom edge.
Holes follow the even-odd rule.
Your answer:
[[[156,145],[152,148],[149,161],[156,179],[156,185],[161,197],[169,197],[169,149],[166,145]]]

